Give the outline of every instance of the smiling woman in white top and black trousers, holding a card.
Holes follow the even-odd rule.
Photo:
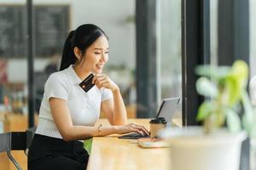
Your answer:
[[[28,155],[28,169],[85,169],[88,153],[83,140],[113,133],[147,133],[127,124],[119,87],[102,74],[108,61],[108,37],[99,27],[82,25],[71,31],[64,45],[61,71],[44,88],[38,128]],[[79,83],[93,73],[95,84],[87,93]],[[95,127],[100,112],[111,126]]]

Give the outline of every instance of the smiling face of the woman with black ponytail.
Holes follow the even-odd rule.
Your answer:
[[[93,42],[83,56],[79,65],[82,71],[102,73],[103,66],[108,61],[108,39],[105,36],[98,37]]]

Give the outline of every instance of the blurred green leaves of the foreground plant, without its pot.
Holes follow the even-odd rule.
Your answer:
[[[247,133],[252,133],[253,107],[247,94],[247,64],[237,60],[232,67],[198,66],[195,72],[201,76],[196,82],[197,92],[207,98],[196,117],[204,122],[205,132],[211,133],[226,122],[230,132],[239,132],[243,126]],[[244,114],[240,119],[241,106]]]

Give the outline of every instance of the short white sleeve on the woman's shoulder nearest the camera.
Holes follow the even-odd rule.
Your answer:
[[[68,86],[65,78],[67,77],[62,74],[52,74],[49,76],[44,88],[44,94],[47,100],[49,100],[49,98],[67,100]]]

